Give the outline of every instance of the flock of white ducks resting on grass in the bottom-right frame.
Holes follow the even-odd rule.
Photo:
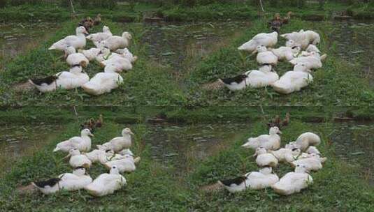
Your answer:
[[[295,142],[289,142],[285,148],[280,148],[280,135],[282,132],[277,126],[270,128],[269,135],[250,137],[243,144],[243,148],[254,149],[259,172],[249,172],[235,179],[218,181],[229,192],[240,192],[246,189],[259,190],[273,188],[280,195],[292,195],[307,188],[313,181],[309,172],[322,169],[326,158],[322,158],[317,145],[321,139],[313,132],[301,134]],[[279,179],[273,173],[278,163],[285,163],[294,167]]]

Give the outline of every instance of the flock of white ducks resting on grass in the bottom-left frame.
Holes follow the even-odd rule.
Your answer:
[[[62,151],[69,153],[69,165],[73,167],[72,173],[60,174],[57,178],[47,181],[31,183],[45,195],[59,190],[80,190],[85,189],[90,195],[101,197],[110,195],[119,190],[127,181],[121,173],[134,172],[136,163],[140,158],[134,158],[129,149],[131,147],[131,135],[134,135],[129,128],[122,130],[121,137],[115,137],[109,142],[97,145],[97,149],[91,151],[92,132],[88,128],[80,132],[80,137],[70,139],[57,144],[53,152]],[[103,173],[92,180],[87,174],[87,169],[95,163],[104,165],[110,169],[109,173]]]

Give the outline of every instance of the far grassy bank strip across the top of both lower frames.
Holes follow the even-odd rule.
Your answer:
[[[75,113],[76,112],[76,113]],[[324,121],[373,121],[369,107],[1,107],[0,123],[59,123],[83,121],[103,114],[116,123],[229,123],[255,122],[291,112],[292,117],[309,123]]]

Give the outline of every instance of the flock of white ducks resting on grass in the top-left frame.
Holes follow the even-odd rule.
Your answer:
[[[123,70],[131,70],[137,56],[131,54],[129,43],[131,34],[127,31],[122,36],[113,36],[109,27],[104,26],[99,33],[87,33],[85,27],[77,27],[75,36],[67,36],[54,43],[49,50],[64,51],[69,71],[62,71],[42,79],[29,79],[29,82],[42,93],[61,89],[82,88],[90,95],[98,96],[116,89],[123,78]],[[91,40],[96,47],[85,50],[86,40]],[[78,52],[77,52],[78,50]],[[103,67],[103,72],[89,78],[83,70],[89,62],[96,61]]]

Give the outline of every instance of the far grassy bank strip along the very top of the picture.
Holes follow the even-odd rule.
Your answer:
[[[303,20],[326,20],[347,13],[357,19],[373,19],[374,10],[370,4],[347,6],[343,3],[328,2],[319,8],[318,3],[307,3],[303,8],[285,5],[265,5],[266,13],[287,13],[293,11],[296,17]],[[250,3],[211,3],[202,6],[162,6],[153,3],[125,3],[109,10],[106,8],[75,7],[78,17],[95,16],[101,13],[104,18],[113,22],[138,22],[143,17],[164,17],[166,21],[211,21],[211,20],[250,20],[259,16],[261,8]],[[59,4],[41,4],[8,6],[0,10],[0,21],[35,22],[35,21],[65,21],[71,18],[71,9]]]

